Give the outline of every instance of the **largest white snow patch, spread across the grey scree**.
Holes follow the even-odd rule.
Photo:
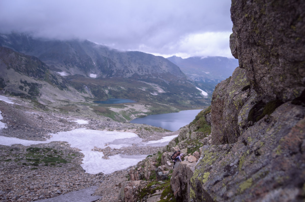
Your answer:
[[[103,172],[105,174],[110,174],[114,171],[128,168],[131,165],[137,164],[142,161],[147,156],[145,155],[124,155],[117,154],[114,156],[109,156],[109,160],[102,159],[104,156],[102,152],[92,151],[95,146],[98,148],[106,148],[110,146],[111,148],[121,148],[125,146],[131,146],[132,144],[143,145],[156,145],[167,144],[171,139],[177,135],[163,137],[160,140],[149,141],[146,143],[142,142],[142,138],[131,132],[109,132],[109,131],[99,131],[90,130],[85,128],[77,128],[72,131],[58,132],[52,135],[51,139],[46,141],[32,141],[24,140],[12,137],[0,136],[0,144],[11,146],[13,144],[22,144],[24,146],[30,146],[32,144],[49,143],[52,141],[65,141],[71,144],[71,147],[76,147],[81,150],[84,154],[83,164],[81,166],[90,174],[97,174]],[[106,145],[108,144],[108,145]]]

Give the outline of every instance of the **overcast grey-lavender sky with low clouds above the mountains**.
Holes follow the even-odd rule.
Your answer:
[[[88,39],[164,57],[224,56],[230,0],[0,0],[0,32]]]

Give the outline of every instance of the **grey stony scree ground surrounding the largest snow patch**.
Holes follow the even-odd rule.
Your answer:
[[[0,130],[1,136],[43,141],[50,138],[50,133],[88,128],[133,132],[142,138],[143,142],[148,142],[179,133],[179,131],[165,132],[161,128],[148,125],[143,127],[142,124],[116,122],[107,117],[92,116],[92,114],[60,114],[48,110],[37,110],[33,103],[24,99],[12,100],[12,102],[15,104],[0,101],[3,118],[1,121],[6,127]],[[73,122],[76,120],[85,120],[88,124]],[[92,149],[103,152],[103,158],[107,159],[109,156],[123,152],[127,155],[153,154],[160,147],[131,145],[118,149],[110,147]],[[99,186],[97,193],[102,197],[99,201],[118,201],[118,190],[127,180],[130,168],[108,175],[88,174],[81,167],[83,158],[84,155],[79,149],[70,147],[69,143],[63,141],[31,146],[0,145],[0,200],[39,200],[96,185]],[[117,164],[120,163],[117,162]]]

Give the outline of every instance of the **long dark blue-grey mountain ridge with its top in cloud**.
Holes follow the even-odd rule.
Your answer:
[[[167,82],[188,81],[178,66],[163,57],[138,51],[122,52],[88,40],[45,40],[32,38],[24,33],[12,33],[1,35],[0,45],[35,56],[54,70],[70,75],[89,77],[90,74],[96,74],[97,78],[149,76],[162,78]]]

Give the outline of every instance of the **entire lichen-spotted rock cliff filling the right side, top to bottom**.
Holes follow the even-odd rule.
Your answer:
[[[301,1],[232,0],[239,67],[211,103],[190,201],[303,201],[305,51]]]

